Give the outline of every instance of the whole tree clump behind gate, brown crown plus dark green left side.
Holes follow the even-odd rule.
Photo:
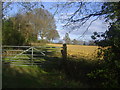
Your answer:
[[[9,26],[7,23],[9,23]],[[44,10],[42,8],[33,9],[23,14],[16,14],[14,17],[10,17],[6,20],[4,19],[3,24],[3,44],[12,44],[11,42],[7,41],[15,38],[15,36],[12,35],[15,34],[15,32],[18,32],[19,36],[21,35],[21,37],[19,37],[16,34],[18,38],[21,38],[21,40],[23,40],[20,41],[19,39],[16,39],[19,41],[19,43],[21,43],[21,45],[23,45],[23,43],[29,44],[31,42],[36,42],[38,40],[38,37],[47,40],[54,40],[59,38],[54,17],[47,10]],[[10,33],[11,36],[6,37],[7,33]],[[15,43],[12,45],[20,44]]]

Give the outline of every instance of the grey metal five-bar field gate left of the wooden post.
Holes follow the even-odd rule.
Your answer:
[[[2,46],[2,63],[11,65],[36,65],[43,57],[58,53],[63,47]]]

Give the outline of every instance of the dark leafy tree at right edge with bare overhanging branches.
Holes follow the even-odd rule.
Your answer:
[[[94,5],[96,4],[96,7]],[[104,20],[110,24],[108,27],[108,31],[103,34],[99,34],[98,32],[94,33],[92,36],[95,39],[95,43],[100,46],[100,52],[98,55],[103,57],[105,61],[105,66],[102,70],[98,70],[95,74],[99,76],[94,77],[102,77],[105,87],[119,87],[120,86],[120,59],[119,59],[119,48],[120,48],[120,33],[119,33],[119,25],[120,25],[120,1],[119,2],[103,2],[100,3],[101,7],[97,9],[97,3],[89,3],[89,2],[68,2],[64,3],[64,5],[60,5],[62,7],[73,6],[76,5],[76,10],[74,9],[73,14],[69,15],[66,20],[65,26],[72,26],[71,31],[74,28],[79,28],[84,25],[90,18],[94,17],[94,20],[90,22],[87,29],[81,36],[84,36],[85,33],[89,30],[90,25],[100,17],[104,18]],[[91,5],[91,7],[86,6]],[[90,9],[89,9],[89,8]],[[94,8],[93,8],[94,7]],[[70,7],[69,7],[70,8]],[[68,10],[69,11],[69,10]],[[80,24],[78,24],[80,23]],[[105,47],[105,48],[104,48]],[[113,79],[114,78],[114,79]],[[107,81],[108,80],[108,81]]]

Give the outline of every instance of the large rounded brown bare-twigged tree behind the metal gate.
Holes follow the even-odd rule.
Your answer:
[[[48,35],[51,35],[49,37],[50,40],[59,38],[58,32],[55,31],[56,25],[54,18],[47,10],[41,8],[33,9],[23,14],[18,13],[9,19],[12,24],[11,28],[24,37],[24,44],[36,42],[39,35],[41,39],[47,38]],[[51,32],[54,32],[55,35],[52,36]]]

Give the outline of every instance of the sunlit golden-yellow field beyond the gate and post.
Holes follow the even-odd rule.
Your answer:
[[[62,44],[48,44],[51,46],[62,47]],[[97,46],[67,45],[68,56],[76,58],[94,59],[97,55]]]

